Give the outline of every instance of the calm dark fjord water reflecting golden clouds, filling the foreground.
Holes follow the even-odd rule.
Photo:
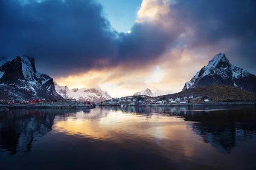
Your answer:
[[[256,106],[0,112],[8,169],[255,170]]]

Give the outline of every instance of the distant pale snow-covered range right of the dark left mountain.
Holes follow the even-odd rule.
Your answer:
[[[55,83],[55,89],[64,99],[77,99],[77,101],[84,102],[102,102],[104,100],[112,99],[107,91],[102,91],[100,88],[74,88],[69,89],[67,86],[61,86]]]

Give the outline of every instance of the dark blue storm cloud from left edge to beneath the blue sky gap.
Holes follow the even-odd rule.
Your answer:
[[[2,0],[0,8],[0,54],[33,56],[51,75],[150,62],[176,36],[147,22],[118,34],[93,0]]]

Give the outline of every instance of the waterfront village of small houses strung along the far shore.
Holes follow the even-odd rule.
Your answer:
[[[94,106],[134,106],[134,105],[186,105],[189,103],[194,102],[210,102],[209,99],[203,96],[177,96],[175,99],[166,99],[165,97],[160,99],[149,98],[148,96],[128,96],[128,97],[121,97],[121,98],[112,98],[111,100],[105,100],[100,103],[94,103],[90,101],[77,101],[76,99],[44,99],[42,97],[36,97],[29,100],[24,99],[15,99],[15,100],[8,100],[8,99],[0,99],[1,104],[7,105],[27,105],[27,104],[37,104],[37,103],[56,103],[56,102],[78,102],[83,103],[84,105],[94,105]]]

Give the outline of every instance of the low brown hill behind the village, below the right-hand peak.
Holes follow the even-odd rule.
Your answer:
[[[189,88],[175,94],[159,96],[157,99],[165,97],[174,99],[177,96],[207,96],[212,102],[256,102],[256,93],[245,91],[241,88],[229,85],[204,85],[199,88]]]

